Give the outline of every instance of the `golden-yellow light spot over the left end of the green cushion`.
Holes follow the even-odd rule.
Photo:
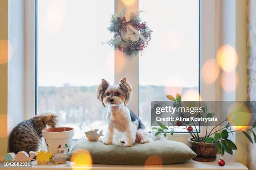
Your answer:
[[[84,169],[84,170],[90,170],[92,167],[92,157],[89,153],[88,150],[81,149],[75,151],[71,158],[70,161],[74,164],[72,164],[72,169]]]

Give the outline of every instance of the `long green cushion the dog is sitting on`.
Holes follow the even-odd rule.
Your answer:
[[[83,138],[78,140],[67,160],[70,160],[72,153],[81,149],[90,152],[92,163],[113,165],[145,165],[146,160],[147,164],[182,163],[197,155],[184,143],[172,140],[155,140],[124,147],[119,141],[114,141],[113,145],[104,145],[100,140],[89,141]]]

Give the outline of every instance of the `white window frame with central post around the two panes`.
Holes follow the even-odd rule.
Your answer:
[[[139,0],[135,0],[133,5],[126,8],[126,17],[128,13],[139,10]],[[220,30],[219,30],[219,17],[220,7],[219,1],[200,0],[200,60],[201,66],[210,58],[215,58],[215,53],[219,47]],[[25,119],[29,119],[35,115],[36,108],[36,0],[24,0],[25,7]],[[125,5],[122,0],[115,0],[115,13],[123,10]],[[128,30],[129,34],[129,30]],[[127,36],[127,35],[125,35]],[[129,35],[131,36],[131,35]],[[136,39],[136,37],[132,37]],[[128,107],[138,115],[138,55],[133,57],[120,56],[120,52],[115,52],[114,55],[114,83],[117,84],[119,80],[126,77],[133,87],[133,97]],[[120,66],[120,64],[123,64]],[[134,67],[136,66],[136,67]],[[117,68],[123,67],[123,70],[116,71]],[[200,83],[200,95],[203,100],[218,100],[219,80],[213,85],[206,85],[203,81]],[[200,133],[205,134],[205,127],[201,127]],[[189,133],[175,133],[167,135],[168,139],[181,141],[188,144],[187,138],[190,137]]]

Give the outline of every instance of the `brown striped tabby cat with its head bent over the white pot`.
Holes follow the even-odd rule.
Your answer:
[[[15,154],[19,151],[38,151],[41,147],[42,130],[54,128],[57,122],[57,116],[53,113],[36,115],[20,122],[10,133],[10,151]]]

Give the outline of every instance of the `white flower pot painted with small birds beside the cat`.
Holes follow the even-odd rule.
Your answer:
[[[47,149],[51,155],[56,153],[69,153],[74,136],[73,128],[48,128],[42,131]]]

